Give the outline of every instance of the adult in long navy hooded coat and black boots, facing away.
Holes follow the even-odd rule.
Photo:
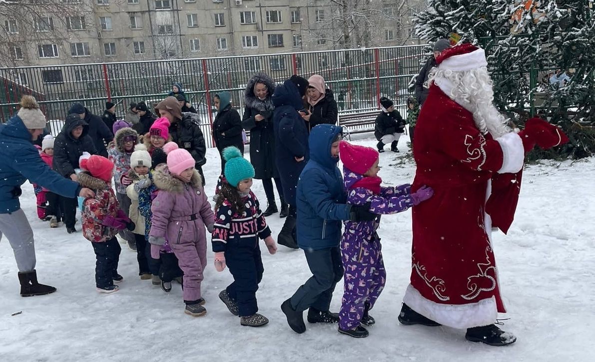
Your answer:
[[[277,237],[281,245],[297,249],[296,242],[296,188],[299,174],[309,158],[308,128],[297,112],[303,107],[303,97],[308,81],[292,75],[283,84],[277,85],[271,99],[273,130],[275,133],[275,161],[283,187],[283,196],[289,204],[289,212]]]

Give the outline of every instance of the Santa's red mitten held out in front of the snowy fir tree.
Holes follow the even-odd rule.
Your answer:
[[[547,149],[568,142],[568,136],[562,132],[562,129],[541,118],[527,120],[525,129],[519,132],[519,136],[521,136],[525,152],[531,151],[535,144]]]

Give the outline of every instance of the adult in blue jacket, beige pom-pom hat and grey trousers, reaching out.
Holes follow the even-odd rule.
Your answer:
[[[53,293],[56,288],[37,281],[35,239],[19,202],[21,185],[29,180],[63,196],[93,196],[91,190],[52,171],[39,157],[32,140],[43,132],[45,123],[35,98],[24,96],[17,115],[0,125],[0,240],[5,236],[14,250],[23,297]]]

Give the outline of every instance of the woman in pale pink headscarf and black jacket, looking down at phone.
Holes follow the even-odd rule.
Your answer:
[[[302,118],[306,121],[308,133],[317,125],[328,123],[336,125],[339,119],[339,109],[334,100],[333,91],[326,88],[324,78],[321,75],[314,74],[308,78],[308,92],[306,93],[308,101],[308,114],[300,112]]]

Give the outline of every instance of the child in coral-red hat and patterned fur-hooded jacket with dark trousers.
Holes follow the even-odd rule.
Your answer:
[[[81,160],[84,169],[79,173],[81,185],[95,191],[95,197],[86,198],[83,202],[83,236],[89,240],[95,250],[95,283],[101,293],[113,293],[118,290],[114,282],[124,278],[118,274],[120,244],[115,235],[120,230],[134,229],[134,223],[120,209],[111,179],[114,174],[114,163],[99,155],[92,155]]]

